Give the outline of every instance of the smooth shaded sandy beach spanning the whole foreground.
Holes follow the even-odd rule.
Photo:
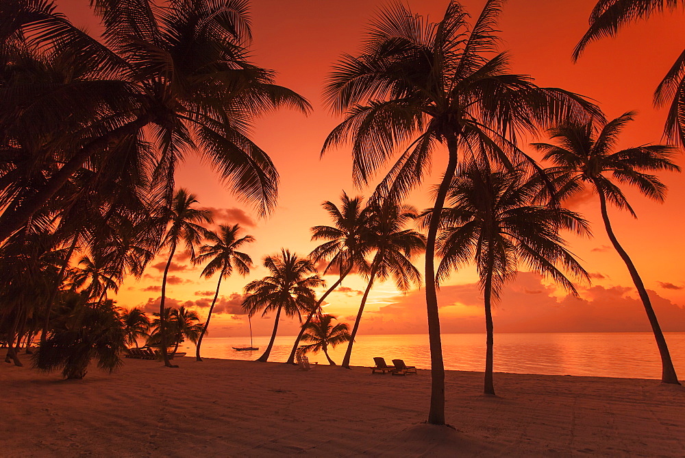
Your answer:
[[[447,373],[447,422],[428,426],[429,371],[192,358],[127,359],[63,381],[0,366],[3,457],[685,455],[685,389],[658,381]]]

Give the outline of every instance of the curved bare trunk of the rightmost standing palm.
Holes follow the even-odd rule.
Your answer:
[[[606,228],[606,233],[609,236],[609,240],[611,241],[612,245],[614,245],[614,249],[616,250],[616,252],[618,252],[619,256],[621,256],[621,259],[623,259],[625,266],[628,268],[628,272],[630,272],[630,278],[632,278],[635,287],[638,290],[638,294],[640,295],[640,299],[642,300],[643,305],[645,306],[645,311],[647,312],[647,317],[649,318],[649,324],[651,324],[651,330],[654,333],[656,345],[658,346],[659,353],[661,355],[661,381],[662,383],[672,383],[673,385],[680,385],[678,377],[675,374],[675,367],[673,367],[673,361],[671,361],[669,346],[666,343],[666,339],[664,338],[664,333],[662,333],[661,326],[659,326],[659,321],[656,318],[656,313],[654,313],[654,309],[651,306],[651,300],[649,300],[647,289],[645,289],[645,285],[643,284],[642,278],[640,278],[640,275],[638,274],[637,269],[633,265],[632,260],[625,252],[625,250],[623,250],[623,247],[621,247],[619,241],[616,239],[616,236],[614,235],[614,231],[612,230],[611,223],[609,221],[609,215],[606,211],[606,197],[604,197],[604,193],[601,190],[599,190],[599,204],[601,208],[601,217],[604,221],[604,228]]]

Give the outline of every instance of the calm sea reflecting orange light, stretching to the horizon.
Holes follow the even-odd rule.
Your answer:
[[[665,333],[675,370],[685,378],[685,333]],[[445,334],[445,369],[482,372],[485,365],[484,334]],[[295,336],[276,337],[269,361],[286,361]],[[257,359],[269,337],[254,337],[259,351],[239,352],[249,337],[206,337],[202,356],[220,359]],[[184,346],[184,345],[182,345]],[[185,346],[188,356],[195,346]],[[336,363],[343,360],[345,346],[330,351]],[[323,353],[309,354],[310,361],[326,364]],[[361,335],[353,347],[351,365],[373,365],[373,357],[403,359],[408,365],[430,368],[428,336],[421,334]],[[495,371],[519,374],[660,378],[661,363],[651,333],[539,333],[496,334]]]

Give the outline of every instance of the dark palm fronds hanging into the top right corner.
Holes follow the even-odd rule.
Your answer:
[[[573,60],[580,58],[585,48],[595,40],[615,36],[627,23],[647,19],[654,13],[675,10],[685,5],[684,0],[599,0],[590,13],[590,26],[573,50]],[[685,50],[677,57],[654,92],[657,106],[671,108],[664,133],[669,141],[685,145]]]

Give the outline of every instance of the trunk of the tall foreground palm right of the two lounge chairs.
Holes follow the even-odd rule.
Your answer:
[[[445,424],[445,364],[443,363],[443,344],[440,341],[440,315],[438,314],[438,293],[435,282],[435,241],[440,224],[440,213],[447,190],[454,172],[457,169],[457,136],[453,132],[447,135],[447,151],[449,160],[445,176],[440,182],[438,193],[433,204],[428,233],[426,234],[425,254],[425,282],[426,282],[426,311],[428,315],[428,341],[430,343],[431,361],[431,394],[428,422],[430,424]]]

